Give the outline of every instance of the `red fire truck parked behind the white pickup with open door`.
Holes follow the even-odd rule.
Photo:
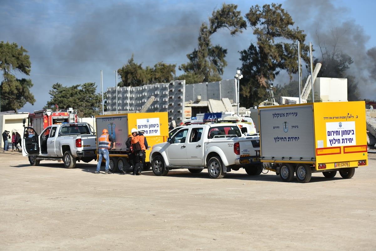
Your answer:
[[[62,123],[76,123],[77,122],[77,110],[69,108],[68,110],[56,110],[44,109],[39,111],[34,111],[30,113],[27,118],[27,126],[33,127],[38,135],[47,126],[53,124]]]

